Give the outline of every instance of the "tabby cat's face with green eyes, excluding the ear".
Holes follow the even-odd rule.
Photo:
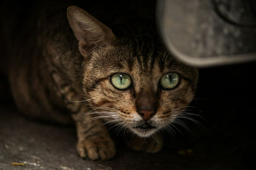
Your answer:
[[[147,56],[133,50],[123,45],[95,51],[84,67],[84,91],[95,117],[147,137],[186,109],[198,75],[163,50],[148,48]]]

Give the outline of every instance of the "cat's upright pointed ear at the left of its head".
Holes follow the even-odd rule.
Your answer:
[[[108,45],[115,39],[115,35],[109,27],[77,6],[68,7],[67,18],[79,41],[79,50],[84,57],[88,56],[93,47]]]

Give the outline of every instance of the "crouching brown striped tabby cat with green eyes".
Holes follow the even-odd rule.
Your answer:
[[[191,103],[198,71],[168,53],[154,24],[125,20],[110,29],[78,6],[68,7],[66,19],[30,19],[36,24],[15,40],[8,61],[17,108],[30,118],[75,122],[82,158],[115,156],[105,124],[135,134],[132,149],[159,152],[157,132]]]

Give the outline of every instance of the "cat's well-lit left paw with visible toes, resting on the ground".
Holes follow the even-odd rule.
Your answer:
[[[108,160],[114,157],[116,150],[113,140],[106,137],[104,139],[84,139],[78,142],[77,152],[82,158]]]

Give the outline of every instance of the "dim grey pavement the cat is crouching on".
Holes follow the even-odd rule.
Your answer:
[[[180,139],[166,139],[163,151],[156,154],[132,152],[116,138],[116,157],[93,162],[78,157],[74,127],[28,120],[12,106],[2,106],[0,169],[238,169],[243,166],[243,156],[235,151],[240,146],[222,143],[227,140],[225,136],[216,140],[204,130],[198,131],[198,134],[190,134],[193,138],[185,135]],[[192,153],[179,153],[188,148]],[[26,165],[14,166],[13,162]]]

